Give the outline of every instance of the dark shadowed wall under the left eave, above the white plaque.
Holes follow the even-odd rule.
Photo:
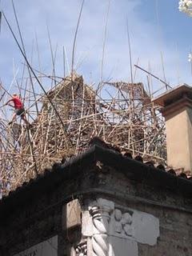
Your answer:
[[[51,207],[51,201],[49,194],[35,202],[31,201],[30,205],[15,210],[14,214],[2,223],[0,241],[4,254],[1,255],[12,256],[56,234],[58,245],[65,247],[60,225],[62,207]]]

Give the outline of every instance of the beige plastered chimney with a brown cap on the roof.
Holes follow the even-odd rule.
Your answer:
[[[192,87],[175,87],[154,98],[166,120],[167,164],[192,171]]]

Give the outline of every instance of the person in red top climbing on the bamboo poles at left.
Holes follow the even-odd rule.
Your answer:
[[[14,102],[14,106],[12,106],[10,104],[10,102]],[[26,120],[26,113],[25,113],[26,111],[24,109],[22,100],[18,97],[18,94],[13,94],[12,98],[10,98],[10,100],[8,102],[6,102],[5,105],[12,106],[15,109],[13,117],[12,117],[12,120],[8,123],[9,125],[14,122],[14,120],[16,119],[16,116],[18,115],[18,116],[20,116],[22,118],[22,120],[24,122],[26,122],[26,125],[30,127],[30,122],[28,122]]]

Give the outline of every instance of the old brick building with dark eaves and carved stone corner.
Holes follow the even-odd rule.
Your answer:
[[[164,107],[182,102],[183,127],[190,126],[187,88],[169,93],[174,102],[167,94],[156,99]],[[178,118],[173,113],[167,120]],[[177,122],[171,127],[178,129]],[[180,156],[171,151],[170,157]],[[190,256],[191,195],[185,173],[132,159],[94,138],[82,154],[2,198],[0,255]]]

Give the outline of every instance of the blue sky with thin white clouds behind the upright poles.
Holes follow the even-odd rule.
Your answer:
[[[78,74],[82,74],[87,83],[98,84],[101,77],[102,44],[108,2],[108,0],[85,0],[83,7],[74,63]],[[57,49],[56,74],[63,75],[63,46],[66,49],[70,68],[74,31],[81,3],[80,0],[14,1],[26,53],[34,68],[41,69],[45,74],[52,72],[46,26],[50,30],[54,52]],[[18,37],[11,1],[2,0],[1,8]],[[164,79],[163,58],[166,82],[170,82],[171,86],[182,82],[190,84],[192,75],[187,55],[192,49],[190,33],[192,18],[178,11],[178,0],[110,1],[103,79],[130,81],[126,18],[130,26],[133,64],[138,62],[138,65],[146,70],[150,66],[153,74]],[[38,65],[35,34],[38,37],[41,68]],[[22,77],[23,62],[14,38],[2,19],[0,78],[6,88],[9,88],[14,76],[18,81]],[[137,70],[135,82],[140,81],[146,83],[146,74]],[[152,83],[154,90],[162,86],[154,79]],[[47,84],[44,86],[46,87]],[[35,89],[38,90],[38,85]]]

